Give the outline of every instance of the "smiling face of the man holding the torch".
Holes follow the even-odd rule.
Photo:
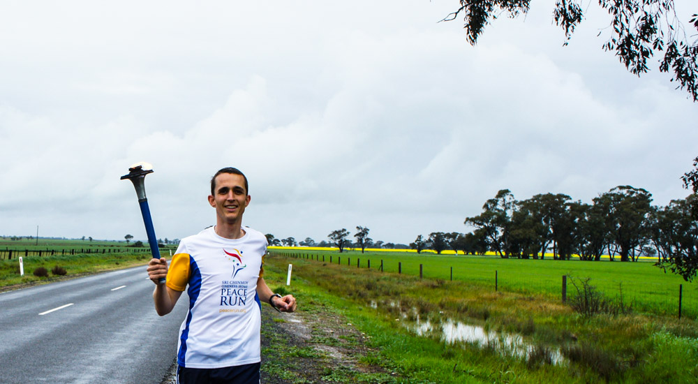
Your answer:
[[[234,173],[221,173],[216,176],[214,195],[209,195],[209,204],[216,208],[216,214],[225,223],[242,220],[242,214],[250,203],[245,190],[245,179]]]

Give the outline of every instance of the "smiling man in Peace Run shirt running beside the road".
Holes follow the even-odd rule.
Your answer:
[[[260,383],[260,301],[292,312],[292,295],[272,293],[262,277],[267,238],[242,227],[250,203],[247,178],[223,168],[211,178],[209,204],[216,226],[182,239],[172,256],[148,264],[156,283],[153,299],[160,316],[172,311],[188,286],[189,311],[179,328],[177,381]],[[158,279],[167,278],[159,284]]]

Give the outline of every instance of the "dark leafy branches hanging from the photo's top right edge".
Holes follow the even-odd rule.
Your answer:
[[[530,0],[460,0],[458,10],[442,21],[463,15],[468,43],[475,45],[491,19],[504,12],[512,18],[525,15],[529,4]],[[584,19],[583,6],[588,7],[588,3],[581,0],[556,3],[553,20],[565,31],[568,41]],[[603,50],[615,52],[625,68],[637,76],[649,71],[647,60],[655,52],[664,52],[660,72],[673,72],[671,81],[678,82],[678,87],[685,88],[693,101],[698,101],[698,40],[686,40],[673,0],[599,0],[599,6],[612,19],[599,34],[604,31],[610,34],[602,45]],[[694,14],[690,23],[698,30],[698,15]]]

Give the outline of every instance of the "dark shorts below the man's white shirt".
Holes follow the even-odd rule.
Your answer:
[[[260,384],[261,363],[236,365],[225,368],[177,367],[178,384]]]

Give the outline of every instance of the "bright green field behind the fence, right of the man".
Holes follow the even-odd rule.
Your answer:
[[[678,316],[679,286],[683,284],[682,316],[698,317],[698,290],[695,283],[683,281],[680,276],[671,274],[653,263],[621,263],[619,261],[580,261],[580,260],[519,260],[503,259],[497,256],[454,256],[433,253],[400,252],[343,252],[304,251],[276,249],[288,256],[303,256],[316,261],[341,262],[345,267],[364,269],[380,268],[384,272],[399,271],[419,276],[419,265],[425,279],[443,279],[477,283],[492,290],[507,290],[519,293],[533,293],[551,300],[562,299],[563,275],[567,279],[567,296],[575,293],[572,283],[579,285],[579,279],[590,279],[589,283],[609,297],[620,298],[634,310],[659,315]]]

